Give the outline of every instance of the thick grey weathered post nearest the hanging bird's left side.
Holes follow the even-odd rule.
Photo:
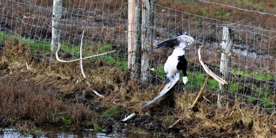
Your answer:
[[[143,0],[142,1],[142,27],[141,27],[141,46],[142,46],[142,57],[141,57],[141,73],[142,82],[149,82],[149,60],[152,56],[153,51],[153,29],[154,25],[154,12],[155,5],[154,0]]]

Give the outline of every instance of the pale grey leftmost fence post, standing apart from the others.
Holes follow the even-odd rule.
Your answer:
[[[53,1],[53,14],[52,14],[52,41],[51,41],[51,59],[53,62],[55,59],[56,49],[59,43],[60,30],[61,30],[61,9],[62,0]]]

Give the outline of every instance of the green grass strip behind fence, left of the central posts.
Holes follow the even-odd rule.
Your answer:
[[[25,44],[25,48],[30,48],[32,51],[38,51],[40,54],[48,53],[51,50],[51,40],[27,39],[27,38],[18,36],[17,34],[0,31],[0,41],[2,43],[5,43],[6,40],[8,39],[18,39],[20,43]],[[70,40],[70,41],[73,41],[73,40]],[[111,48],[112,46],[110,44],[101,45],[99,43],[83,42],[82,55],[86,55],[86,56],[97,55],[104,52],[108,52],[111,50]],[[79,45],[74,46],[74,45],[62,44],[60,49],[61,50],[59,51],[59,54],[61,56],[64,57],[66,55],[65,52],[68,52],[72,55],[71,59],[79,59],[79,54],[80,54]],[[115,65],[116,67],[123,67],[125,70],[127,70],[128,61],[117,57],[119,57],[117,52],[113,52],[105,56],[99,56],[98,58],[102,59],[103,62],[108,63],[109,65]],[[94,59],[91,59],[91,60],[92,62],[95,61]]]

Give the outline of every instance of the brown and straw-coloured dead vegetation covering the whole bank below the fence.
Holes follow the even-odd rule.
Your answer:
[[[168,96],[142,108],[141,105],[160,92],[162,84],[141,91],[138,80],[127,81],[127,71],[87,63],[84,71],[91,84],[88,87],[82,79],[79,63],[49,64],[47,55],[37,62],[32,57],[35,53],[31,54],[23,46],[16,40],[9,40],[0,55],[0,118],[60,124],[65,123],[64,118],[70,120],[72,117],[74,122],[70,125],[78,127],[87,121],[97,122],[96,114],[104,112],[102,109],[117,108],[122,114],[120,120],[124,114],[137,114],[128,123],[147,114],[147,119],[158,118],[166,128],[181,119],[173,130],[182,130],[186,137],[273,137],[276,134],[273,128],[275,112],[267,115],[257,107],[241,108],[239,104],[225,105],[220,109],[208,105],[203,98],[199,98],[191,110],[190,105],[197,94],[184,90],[176,94],[176,88]],[[26,68],[25,62],[30,69]],[[93,89],[105,98],[92,94]],[[60,97],[60,94],[65,97]],[[102,109],[92,108],[95,105]],[[140,121],[143,124],[145,120]]]

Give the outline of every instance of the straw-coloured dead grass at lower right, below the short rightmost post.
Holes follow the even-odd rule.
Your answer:
[[[196,94],[179,94],[176,98],[174,121],[182,119],[178,129],[185,130],[186,136],[219,136],[219,137],[271,137],[276,133],[273,128],[275,117],[265,115],[255,107],[249,109],[238,105],[208,106],[205,100],[198,102],[191,110]],[[239,103],[239,102],[236,102]]]

